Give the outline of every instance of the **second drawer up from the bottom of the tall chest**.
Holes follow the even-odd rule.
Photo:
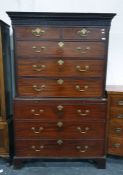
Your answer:
[[[104,122],[15,121],[17,139],[104,139]]]

